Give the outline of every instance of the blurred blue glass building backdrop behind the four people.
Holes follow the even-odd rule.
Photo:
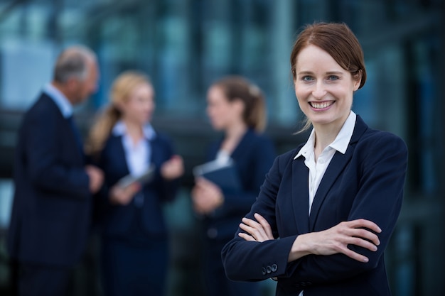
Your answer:
[[[0,295],[10,295],[8,231],[16,131],[51,79],[56,55],[82,43],[97,53],[100,89],[76,110],[86,133],[120,72],[143,70],[156,89],[154,127],[183,155],[181,193],[165,208],[171,229],[168,295],[203,295],[200,236],[189,191],[214,133],[205,93],[223,75],[264,89],[267,135],[283,153],[301,113],[290,75],[301,26],[342,21],[363,45],[368,80],[353,110],[409,147],[402,213],[385,260],[395,296],[445,295],[445,9],[443,0],[0,0]],[[100,295],[97,242],[77,266],[73,295]],[[265,281],[264,295],[274,295]]]

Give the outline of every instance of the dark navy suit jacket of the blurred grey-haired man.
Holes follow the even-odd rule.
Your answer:
[[[89,180],[73,128],[45,93],[18,132],[14,185],[10,256],[28,263],[75,263],[90,228]]]

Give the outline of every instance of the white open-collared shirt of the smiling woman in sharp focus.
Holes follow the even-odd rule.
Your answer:
[[[305,158],[304,164],[309,168],[309,214],[311,213],[312,202],[318,190],[318,185],[320,185],[321,179],[329,163],[331,163],[333,155],[336,151],[345,154],[346,149],[348,149],[350,138],[353,136],[356,117],[355,113],[350,111],[336,139],[324,148],[323,152],[318,156],[317,161],[315,161],[315,132],[313,130],[306,144],[301,147],[299,153],[297,153],[294,158],[296,159],[303,155]]]

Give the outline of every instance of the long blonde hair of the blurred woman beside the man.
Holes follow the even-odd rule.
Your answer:
[[[110,102],[97,116],[95,124],[90,129],[85,147],[87,154],[97,157],[104,148],[105,141],[107,141],[114,124],[122,117],[118,104],[127,102],[129,95],[141,84],[151,85],[149,77],[143,72],[129,70],[116,77],[109,94]]]

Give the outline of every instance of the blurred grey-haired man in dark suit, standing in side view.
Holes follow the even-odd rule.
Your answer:
[[[65,295],[85,250],[92,194],[102,171],[85,163],[73,106],[97,89],[97,58],[88,48],[60,53],[53,81],[23,117],[14,162],[8,251],[18,295]]]

